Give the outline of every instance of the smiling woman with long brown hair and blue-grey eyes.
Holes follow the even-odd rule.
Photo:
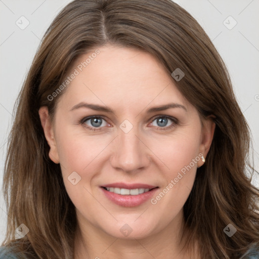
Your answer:
[[[19,97],[2,257],[258,258],[249,142],[226,67],[184,9],[73,1]]]

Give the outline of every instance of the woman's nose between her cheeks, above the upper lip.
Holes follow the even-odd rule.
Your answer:
[[[128,133],[118,129],[118,137],[113,143],[111,165],[125,172],[138,172],[150,163],[149,148],[143,138],[138,136],[137,127]]]

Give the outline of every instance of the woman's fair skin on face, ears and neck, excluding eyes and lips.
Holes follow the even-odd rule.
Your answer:
[[[203,165],[201,159],[155,205],[148,200],[135,207],[119,206],[104,196],[100,186],[145,183],[159,187],[153,197],[157,196],[199,153],[206,157],[215,124],[203,119],[202,131],[198,111],[150,54],[110,45],[98,49],[100,54],[59,98],[54,119],[47,107],[39,110],[50,158],[61,164],[67,193],[76,207],[74,258],[190,258],[181,251],[179,235],[183,206],[196,169]],[[88,55],[80,56],[71,71]],[[107,106],[114,113],[85,107],[71,111],[81,102]],[[186,110],[146,112],[167,103],[181,104]],[[91,119],[80,123],[92,115],[104,117],[101,126],[95,127]],[[168,119],[161,126],[156,115],[178,122]],[[128,133],[119,127],[125,119],[133,125]],[[73,171],[81,177],[76,185],[68,181]],[[124,224],[133,230],[127,237],[120,232]],[[199,258],[195,254],[192,258]]]

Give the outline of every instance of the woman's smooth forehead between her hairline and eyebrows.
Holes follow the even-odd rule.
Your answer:
[[[74,61],[68,75],[75,71],[61,98],[71,105],[95,101],[113,107],[165,102],[190,106],[163,65],[151,54],[136,49],[110,45],[93,49]]]

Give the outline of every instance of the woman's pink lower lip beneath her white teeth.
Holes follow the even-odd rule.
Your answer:
[[[138,195],[121,195],[114,192],[109,192],[101,187],[105,196],[117,205],[123,207],[136,207],[151,199],[158,188],[154,188],[148,192],[144,192]]]

